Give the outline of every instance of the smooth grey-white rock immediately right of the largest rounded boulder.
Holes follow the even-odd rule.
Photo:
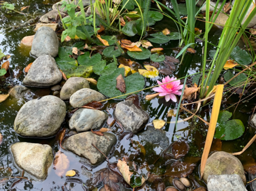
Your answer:
[[[69,128],[77,132],[89,131],[102,127],[108,119],[107,113],[96,109],[78,109],[69,120]]]

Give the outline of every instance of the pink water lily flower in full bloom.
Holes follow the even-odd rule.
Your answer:
[[[166,101],[169,101],[170,99],[174,102],[177,102],[177,98],[175,95],[182,95],[182,91],[179,91],[183,88],[183,85],[180,85],[180,80],[176,80],[177,78],[170,78],[170,76],[167,76],[166,78],[163,78],[162,82],[157,80],[157,83],[160,85],[159,87],[153,88],[153,91],[160,92],[159,96],[166,96]],[[174,82],[171,82],[173,80],[176,80]],[[170,83],[167,83],[170,82]],[[167,83],[167,84],[163,84]]]

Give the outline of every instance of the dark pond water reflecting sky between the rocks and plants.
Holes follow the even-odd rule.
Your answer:
[[[39,15],[43,15],[48,13],[51,10],[53,5],[53,1],[41,1],[41,0],[31,0],[31,1],[24,1],[24,0],[16,0],[10,1],[13,3],[15,8],[19,10],[23,6],[29,7],[29,13],[31,15],[34,14],[34,17]],[[0,12],[1,13],[1,12]],[[23,27],[22,29],[10,31],[10,29],[5,30],[11,26],[20,25],[23,22],[29,20],[30,17],[21,14],[3,14],[1,13],[0,16],[0,48],[5,54],[10,54],[10,70],[11,76],[6,79],[4,84],[5,88],[2,88],[1,94],[6,93],[9,89],[6,88],[8,86],[15,86],[21,85],[22,80],[25,76],[23,69],[27,66],[27,64],[34,61],[29,55],[29,51],[26,48],[20,45],[20,41],[24,36],[33,35],[34,26],[30,27]],[[198,22],[197,27],[203,29],[204,24]],[[163,30],[168,28],[171,31],[176,31],[176,25],[174,22],[170,21],[168,18],[164,18],[163,21],[156,23],[154,26],[157,30]],[[9,32],[10,31],[10,32]],[[209,41],[213,44],[218,43],[219,36],[221,34],[221,30],[214,27],[210,32],[210,39]],[[137,40],[133,38],[132,40]],[[133,41],[134,42],[134,41]],[[159,44],[153,44],[155,47],[159,47]],[[194,74],[195,72],[200,71],[200,65],[202,62],[202,43],[197,43],[196,46],[196,54],[187,54],[184,58],[182,64],[176,64],[176,71],[173,76],[181,78],[188,74]],[[168,56],[175,56],[175,52],[173,48],[178,46],[178,42],[171,41],[167,44],[162,44],[160,47],[164,48],[164,54]],[[212,48],[210,46],[210,48]],[[128,58],[128,57],[127,57]],[[209,57],[210,59],[210,57]],[[147,61],[147,60],[143,60]],[[148,60],[149,61],[149,60]],[[142,63],[142,62],[141,62]],[[156,80],[163,78],[163,75],[159,75],[157,78],[147,79],[146,86],[154,86],[156,85]],[[171,103],[164,99],[153,99],[151,101],[146,101],[144,99],[145,95],[152,94],[152,90],[144,91],[139,93],[140,98],[140,105],[141,107],[147,111],[150,115],[150,119],[148,124],[145,126],[144,129],[141,130],[147,131],[148,128],[152,127],[152,120],[154,119],[163,119],[167,121],[166,125],[163,127],[163,132],[165,135],[162,137],[164,141],[164,145],[169,145],[174,141],[179,139],[186,140],[188,145],[190,145],[190,151],[185,157],[179,159],[179,161],[195,163],[196,167],[193,172],[188,176],[188,178],[193,182],[192,188],[197,188],[199,186],[206,186],[203,181],[200,181],[199,176],[199,164],[200,164],[200,156],[202,155],[204,140],[207,133],[207,126],[201,123],[198,119],[192,118],[189,121],[183,121],[186,117],[190,116],[189,113],[180,113],[179,115],[179,123],[175,128],[175,117],[167,117],[167,112],[170,109],[177,109],[178,104]],[[21,176],[21,171],[19,171],[13,161],[11,160],[11,155],[9,152],[9,147],[11,144],[16,143],[18,141],[21,142],[30,142],[30,143],[41,143],[41,144],[49,144],[54,152],[58,151],[58,144],[56,138],[53,137],[51,139],[25,139],[19,137],[13,130],[13,123],[17,112],[25,104],[27,101],[31,99],[36,99],[37,97],[53,94],[49,88],[33,88],[29,94],[26,94],[24,98],[21,99],[14,99],[9,97],[3,103],[0,103],[0,133],[3,135],[3,143],[0,145],[0,179],[6,177],[6,171],[8,169],[12,170],[12,176]],[[58,96],[58,95],[57,95]],[[228,95],[225,95],[228,97]],[[239,100],[238,95],[233,95],[229,99],[226,100],[222,104],[222,109],[229,107],[231,104],[235,103]],[[109,112],[110,115],[113,114],[113,107],[118,100],[111,100],[108,103],[105,103],[105,107],[103,111]],[[251,108],[253,108],[256,104],[255,99],[251,99],[249,102],[243,103],[238,106],[238,108],[233,113],[234,119],[241,119],[245,127],[247,127],[247,123],[250,117]],[[72,108],[68,103],[68,111],[72,111]],[[211,105],[211,104],[210,104]],[[188,109],[194,109],[196,105],[191,105]],[[229,108],[230,112],[233,112],[235,107]],[[211,107],[204,107],[199,115],[206,120],[210,119],[211,115]],[[68,128],[67,122],[69,120],[69,116],[67,115],[65,123],[62,125],[63,128]],[[108,124],[104,124],[104,127],[108,127]],[[161,176],[168,170],[168,162],[174,162],[174,159],[170,156],[160,157],[160,153],[163,152],[163,148],[160,147],[159,144],[150,144],[146,141],[140,139],[139,136],[133,135],[132,138],[129,135],[121,134],[121,129],[119,125],[114,124],[113,133],[118,137],[118,143],[116,147],[113,149],[111,155],[109,156],[109,161],[113,164],[117,162],[122,157],[128,157],[129,160],[135,161],[137,166],[143,167],[143,172],[151,172],[155,173],[159,178],[157,181],[147,182],[147,184],[143,188],[139,188],[137,190],[161,190],[159,187],[160,183],[163,182],[166,187],[172,185],[172,178]],[[226,151],[226,152],[236,152],[241,151],[242,147],[246,145],[246,143],[250,140],[250,138],[254,135],[255,130],[247,128],[245,134],[234,141],[218,141],[214,140],[214,144],[212,146],[212,151]],[[68,135],[66,135],[68,136]],[[145,156],[140,152],[137,148],[136,144],[137,141],[145,148]],[[182,149],[182,148],[180,148]],[[96,190],[95,187],[102,185],[93,185],[92,181],[89,180],[87,176],[85,176],[85,168],[90,170],[90,173],[95,173],[100,169],[106,168],[108,166],[108,162],[104,161],[102,164],[98,166],[89,166],[86,165],[84,160],[81,157],[74,155],[71,152],[67,152],[62,150],[66,156],[68,156],[68,160],[70,161],[70,166],[68,170],[74,169],[77,170],[76,177],[67,178],[67,177],[58,177],[54,172],[53,166],[50,166],[48,177],[45,181],[36,181],[31,179],[31,181],[27,180],[19,180],[18,178],[11,178],[10,180],[1,181],[0,182],[0,190],[62,190],[62,186],[65,189],[63,190],[85,190],[85,188],[89,190]],[[158,159],[159,158],[159,159]],[[157,160],[158,159],[158,160]],[[256,159],[256,152],[255,152],[255,143],[247,149],[242,156],[239,156],[239,159],[242,161],[243,164],[247,162],[254,162]],[[155,162],[156,161],[156,162]],[[153,164],[153,166],[152,166]],[[150,166],[150,168],[149,168]],[[170,168],[170,165],[169,165]],[[180,171],[182,169],[176,169]],[[25,177],[29,177],[28,174],[25,173]],[[158,188],[158,189],[157,189]]]

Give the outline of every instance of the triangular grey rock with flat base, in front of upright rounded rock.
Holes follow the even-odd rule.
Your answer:
[[[61,82],[62,74],[50,55],[38,57],[23,80],[25,86],[49,87]]]

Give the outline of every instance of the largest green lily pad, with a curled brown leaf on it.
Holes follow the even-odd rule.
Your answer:
[[[108,97],[116,97],[124,94],[128,94],[131,92],[135,92],[138,90],[142,90],[145,86],[144,77],[141,76],[139,73],[135,73],[129,75],[128,77],[124,78],[125,86],[126,86],[126,93],[122,93],[116,88],[116,78],[119,75],[123,75],[124,78],[124,68],[117,68],[115,72],[111,75],[100,76],[97,88],[101,92]],[[135,94],[137,94],[136,92]],[[118,99],[125,99],[127,96],[121,96]]]

